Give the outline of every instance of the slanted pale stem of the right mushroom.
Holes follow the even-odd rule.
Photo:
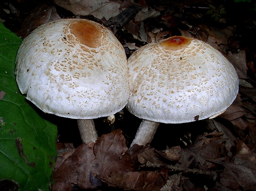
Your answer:
[[[142,119],[142,122],[137,130],[132,144],[130,145],[130,148],[133,144],[146,145],[147,143],[150,143],[153,140],[154,134],[159,124],[160,123],[158,122]]]

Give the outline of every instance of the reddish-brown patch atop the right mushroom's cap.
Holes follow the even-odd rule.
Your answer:
[[[174,36],[171,38],[167,38],[165,41],[160,42],[160,46],[164,47],[167,50],[175,51],[182,47],[187,47],[191,43],[191,38]]]

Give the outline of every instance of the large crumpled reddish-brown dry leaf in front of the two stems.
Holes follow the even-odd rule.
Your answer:
[[[74,184],[95,189],[102,181],[125,189],[160,189],[166,182],[163,172],[137,171],[127,150],[120,130],[99,137],[93,147],[81,144],[55,170],[53,191],[68,191]]]

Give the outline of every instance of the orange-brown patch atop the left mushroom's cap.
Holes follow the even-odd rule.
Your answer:
[[[77,21],[69,26],[71,33],[84,45],[97,48],[101,45],[101,29],[88,21]]]

